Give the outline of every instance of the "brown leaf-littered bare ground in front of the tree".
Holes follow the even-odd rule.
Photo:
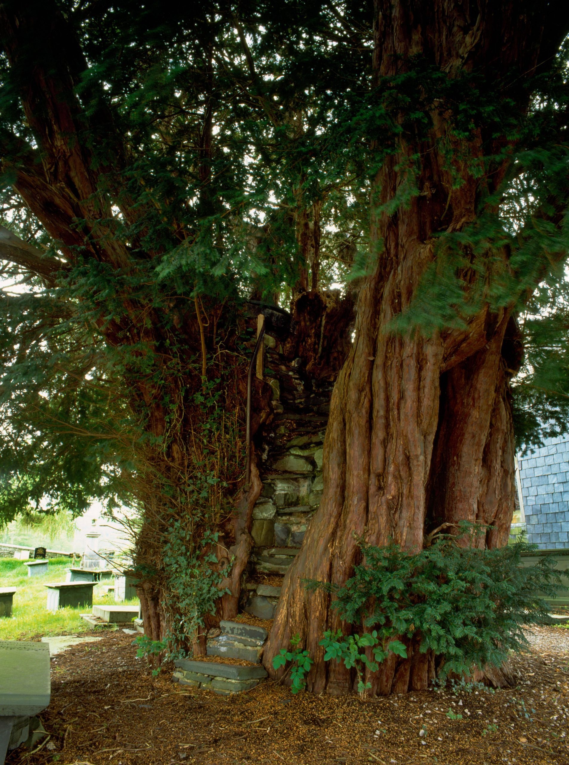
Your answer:
[[[171,672],[152,677],[132,640],[107,633],[53,657],[42,716],[50,739],[8,765],[569,763],[569,630],[560,627],[535,630],[532,653],[513,660],[517,688],[367,702],[268,682],[231,697],[196,691]]]

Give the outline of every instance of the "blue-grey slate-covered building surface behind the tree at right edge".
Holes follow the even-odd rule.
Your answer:
[[[569,439],[544,439],[544,446],[518,454],[528,541],[540,549],[569,549]]]

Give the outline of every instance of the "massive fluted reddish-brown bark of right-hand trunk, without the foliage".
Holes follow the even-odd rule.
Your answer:
[[[378,83],[409,71],[413,57],[425,57],[449,77],[476,71],[487,83],[502,78],[496,99],[513,99],[522,113],[528,97],[523,82],[540,60],[545,5],[377,0]],[[322,503],[286,575],[264,653],[273,672],[273,656],[298,633],[315,659],[308,676],[313,692],[354,687],[354,673],[324,662],[318,646],[325,630],[349,633],[351,627],[331,608],[330,595],[306,591],[303,579],[343,584],[359,559],[357,537],[416,551],[425,533],[441,523],[492,524],[481,545],[503,545],[509,533],[514,442],[511,369],[503,348],[515,330],[510,311],[492,313],[486,305],[466,329],[428,337],[389,329],[435,262],[435,234],[460,231],[474,221],[484,190],[496,190],[506,171],[504,160],[491,174],[475,177],[483,155],[507,142],[479,125],[467,140],[451,139],[454,173],[462,181],[457,184],[443,151],[449,116],[433,109],[432,128],[420,144],[406,135],[398,153],[383,162],[371,194],[371,239],[383,247],[377,247],[377,269],[360,291],[354,345],[331,399]],[[419,194],[396,213],[375,212],[404,187],[417,155]],[[369,678],[373,691],[427,687],[434,662],[417,651],[413,656],[413,647],[409,659],[392,656]]]

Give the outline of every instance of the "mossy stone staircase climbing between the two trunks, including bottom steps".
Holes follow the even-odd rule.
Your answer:
[[[257,443],[263,455],[259,465],[263,489],[253,509],[254,549],[240,610],[269,620],[283,576],[322,497],[322,446],[332,384],[305,379],[300,360],[286,361],[279,341],[269,335],[265,336],[263,366],[273,389],[273,419],[265,427],[262,443]],[[267,630],[231,621],[222,621],[220,630],[207,641],[207,655],[251,665],[179,659],[174,673],[178,682],[228,695],[253,688],[267,676],[260,666]]]

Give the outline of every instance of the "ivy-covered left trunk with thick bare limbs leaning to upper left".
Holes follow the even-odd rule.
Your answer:
[[[212,300],[193,280],[187,290],[160,280],[168,252],[201,236],[202,255],[215,239],[211,66],[194,83],[202,113],[196,107],[192,125],[199,134],[197,220],[205,224],[185,230],[169,217],[169,203],[160,207],[146,193],[144,173],[151,171],[133,171],[117,115],[99,83],[86,84],[86,57],[56,5],[8,2],[0,23],[11,85],[29,129],[21,139],[2,133],[2,169],[65,259],[44,258],[13,237],[15,262],[58,285],[57,298],[92,328],[94,350],[77,374],[102,363],[102,379],[115,384],[109,399],[120,400],[115,419],[112,409],[105,411],[103,431],[112,439],[109,454],[119,466],[123,496],[140,513],[133,573],[146,635],[193,641],[200,653],[203,623],[237,613],[251,509],[260,492],[254,468],[234,513],[244,470],[248,361],[240,343],[250,339],[247,318],[235,310],[236,293]],[[212,28],[200,23],[196,45],[211,64]],[[255,383],[253,431],[267,416],[269,392]],[[225,589],[231,596],[220,599]]]

